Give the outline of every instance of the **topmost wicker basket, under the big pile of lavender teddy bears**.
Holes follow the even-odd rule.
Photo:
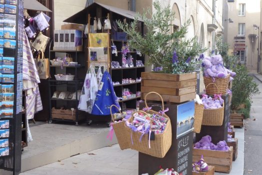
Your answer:
[[[214,77],[205,77],[204,76],[204,86],[206,94],[221,93],[225,94],[228,88],[230,74],[227,74],[225,78],[214,78]],[[208,84],[212,83],[207,87]],[[215,84],[216,86],[214,86]]]

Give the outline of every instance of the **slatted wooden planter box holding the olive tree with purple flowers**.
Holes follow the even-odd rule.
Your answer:
[[[141,73],[141,98],[155,91],[164,101],[180,103],[195,98],[196,73]],[[148,100],[160,101],[157,95],[148,95]]]

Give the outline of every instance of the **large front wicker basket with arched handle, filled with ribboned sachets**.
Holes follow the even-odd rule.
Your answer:
[[[163,99],[162,99],[161,95],[156,93],[156,92],[149,92],[145,95],[145,97],[144,97],[145,108],[148,108],[147,103],[146,103],[146,96],[150,93],[155,93],[155,94],[160,96],[160,98],[162,100],[162,109],[163,109],[164,108]],[[147,113],[155,113],[155,114],[158,113],[159,114],[159,112],[151,110],[151,109],[147,110],[146,111],[147,113],[144,112],[144,111],[136,111],[136,112],[143,112],[145,114],[147,114]],[[141,141],[139,141],[142,133],[141,132],[132,132],[132,130],[129,127],[125,126],[126,129],[128,130],[128,134],[131,135],[131,138],[132,138],[132,141],[133,141],[133,144],[132,144],[131,140],[128,139],[131,149],[137,150],[139,152],[142,152],[142,153],[154,156],[154,157],[162,158],[162,157],[165,156],[166,152],[169,150],[169,148],[171,146],[172,130],[171,130],[170,118],[166,114],[163,114],[162,116],[168,118],[168,121],[166,123],[166,127],[165,127],[163,133],[155,134],[154,140],[150,140],[150,142],[148,140],[148,134],[144,134],[141,138]],[[131,116],[128,119],[129,122],[132,122],[132,120],[133,120],[133,116]],[[150,127],[151,127],[151,124],[150,124]],[[149,143],[150,143],[150,148],[149,148]]]

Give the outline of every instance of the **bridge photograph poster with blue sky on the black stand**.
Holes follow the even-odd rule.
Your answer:
[[[194,101],[185,102],[177,105],[177,126],[176,138],[179,138],[188,132],[191,132],[194,127]]]

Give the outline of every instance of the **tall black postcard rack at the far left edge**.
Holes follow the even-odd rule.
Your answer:
[[[6,2],[6,1],[5,1]],[[14,5],[16,2],[16,5]],[[7,133],[0,134],[0,139],[8,139],[8,147],[4,147],[5,144],[0,144],[3,146],[0,148],[0,174],[1,175],[13,175],[19,174],[21,171],[21,107],[22,107],[22,53],[23,53],[23,0],[12,0],[9,1],[11,5],[9,6],[4,4],[5,10],[3,16],[5,19],[8,18],[8,14],[15,15],[15,39],[11,39],[15,42],[15,46],[8,46],[8,42],[1,46],[5,46],[3,48],[4,57],[14,57],[14,77],[12,78],[3,78],[0,77],[1,80],[10,82],[0,82],[0,84],[11,84],[13,85],[13,107],[12,114],[4,113],[3,109],[1,109],[1,117],[0,122],[4,122],[3,125],[0,125],[1,133],[3,129]],[[10,17],[10,16],[9,16]],[[4,23],[4,21],[0,21]],[[8,23],[8,21],[5,21]],[[4,25],[7,26],[8,24]],[[8,26],[7,26],[8,27]],[[8,38],[10,39],[10,38]],[[10,43],[10,42],[9,42]],[[8,48],[6,48],[8,47]],[[3,73],[4,74],[4,73]],[[1,88],[2,90],[2,88]],[[3,94],[3,93],[2,93]],[[9,98],[10,99],[10,98]],[[11,99],[12,101],[12,99]],[[6,107],[6,106],[5,106]],[[9,107],[10,108],[10,107]],[[10,109],[11,110],[11,109]],[[9,124],[7,124],[9,122]],[[9,131],[9,134],[8,134]]]

